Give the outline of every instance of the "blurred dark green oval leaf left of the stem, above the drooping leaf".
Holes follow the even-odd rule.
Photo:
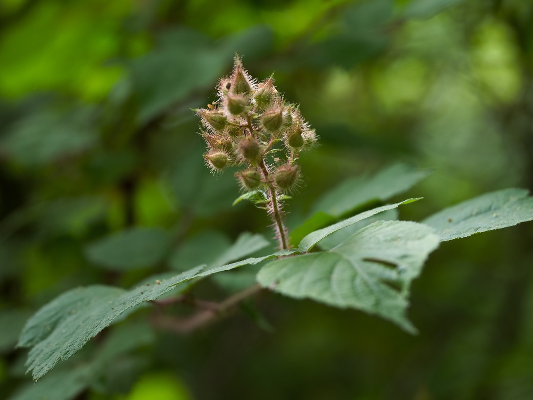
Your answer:
[[[113,270],[148,267],[170,249],[172,235],[160,228],[131,228],[100,239],[85,249],[95,264]]]

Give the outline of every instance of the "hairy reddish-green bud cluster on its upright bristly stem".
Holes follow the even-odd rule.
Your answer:
[[[301,176],[296,162],[318,137],[298,106],[279,94],[274,78],[258,83],[238,55],[231,75],[221,78],[216,87],[218,100],[195,110],[207,143],[207,166],[214,173],[230,166],[243,168],[235,174],[243,197],[265,205],[279,248],[288,249],[282,200],[298,188]]]

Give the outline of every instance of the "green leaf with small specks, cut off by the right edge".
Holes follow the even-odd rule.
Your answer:
[[[504,189],[474,197],[427,217],[441,241],[507,228],[533,220],[533,197],[526,189]]]

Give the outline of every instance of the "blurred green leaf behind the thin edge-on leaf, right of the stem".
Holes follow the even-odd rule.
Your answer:
[[[341,218],[361,206],[372,202],[385,202],[392,196],[403,193],[431,174],[408,164],[394,164],[371,177],[345,180],[319,199],[314,212],[325,212]]]

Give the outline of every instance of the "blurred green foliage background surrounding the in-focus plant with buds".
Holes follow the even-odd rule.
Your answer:
[[[530,223],[443,243],[414,282],[415,337],[272,294],[191,336],[155,330],[139,310],[37,385],[25,375],[26,353],[13,349],[22,324],[60,293],[193,267],[182,265],[206,237],[213,249],[199,263],[243,231],[271,236],[262,210],[232,207],[232,173],[213,178],[203,165],[190,111],[214,100],[235,51],[256,77],[275,71],[320,135],[321,147],[301,158],[305,185],[287,201],[289,227],[329,188],[397,161],[435,170],[409,191],[424,200],[401,219],[486,191],[533,190],[531,2],[5,0],[0,393],[532,398]],[[147,232],[165,243],[154,250]],[[127,240],[122,254],[106,251]],[[115,257],[139,254],[132,248],[151,253],[124,270]],[[170,265],[158,262],[163,253]],[[200,289],[211,300],[237,290],[219,281]],[[261,329],[266,321],[273,333]]]

